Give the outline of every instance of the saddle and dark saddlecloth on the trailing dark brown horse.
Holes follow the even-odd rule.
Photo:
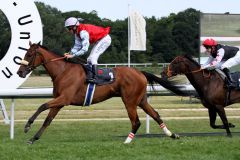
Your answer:
[[[216,71],[220,75],[220,77],[225,81],[225,83],[227,83],[226,82],[227,76],[225,75],[225,73],[220,69],[216,69]],[[234,84],[234,86],[236,86],[235,88],[237,90],[240,90],[240,72],[231,73],[231,78],[233,80],[232,83]]]

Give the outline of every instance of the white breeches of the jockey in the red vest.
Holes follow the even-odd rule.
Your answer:
[[[100,39],[92,48],[92,51],[87,58],[87,62],[91,64],[98,64],[99,56],[110,46],[111,37],[106,35],[104,38]]]

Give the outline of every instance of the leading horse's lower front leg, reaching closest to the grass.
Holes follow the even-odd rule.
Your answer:
[[[40,136],[42,135],[42,133],[44,132],[44,130],[50,125],[50,123],[52,122],[52,120],[55,118],[55,116],[57,115],[57,113],[59,112],[59,110],[62,108],[58,107],[58,108],[50,108],[49,113],[45,119],[45,121],[43,122],[42,127],[38,130],[38,132],[33,136],[33,138],[31,138],[28,143],[29,144],[33,144],[34,141],[38,140],[40,138]]]

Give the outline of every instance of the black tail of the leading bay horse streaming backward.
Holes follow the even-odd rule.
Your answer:
[[[172,91],[173,93],[180,95],[180,96],[189,96],[189,93],[186,91],[181,90],[181,86],[176,86],[174,82],[168,81],[167,79],[163,79],[160,77],[155,76],[152,73],[148,73],[145,71],[141,71],[144,76],[147,78],[148,83],[153,87],[154,84],[160,84],[164,88]],[[154,87],[153,87],[154,88]]]

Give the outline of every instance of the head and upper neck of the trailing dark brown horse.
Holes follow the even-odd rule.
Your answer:
[[[200,65],[188,56],[177,56],[167,68],[167,76],[188,74],[200,69]]]

